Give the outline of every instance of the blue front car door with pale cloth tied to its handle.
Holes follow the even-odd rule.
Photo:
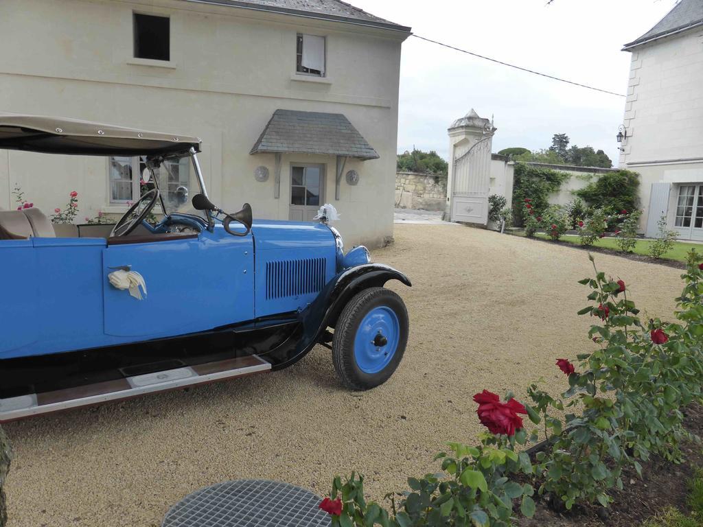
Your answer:
[[[103,251],[106,334],[169,337],[253,318],[251,234],[236,237],[217,229],[198,236],[151,238],[144,243],[129,237],[112,240]],[[118,268],[142,275],[143,299],[110,284],[108,276]]]

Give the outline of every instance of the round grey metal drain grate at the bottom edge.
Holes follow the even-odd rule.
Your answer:
[[[243,479],[196,490],[174,505],[162,527],[328,527],[330,516],[309,490]]]

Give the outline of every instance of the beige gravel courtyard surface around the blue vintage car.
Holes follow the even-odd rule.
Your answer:
[[[524,397],[555,359],[593,348],[577,317],[592,273],[585,252],[488,230],[396,225],[375,261],[404,271],[411,334],[399,370],[352,393],[318,346],[282,372],[14,422],[8,527],[157,527],[171,505],[230,479],[288,481],[324,495],[335,474],[366,474],[370,497],[434,471],[444,441],[472,442],[471,397]],[[648,315],[671,317],[681,271],[596,255]]]

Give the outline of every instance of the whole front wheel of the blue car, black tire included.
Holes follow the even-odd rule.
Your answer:
[[[332,344],[342,382],[352,390],[386,382],[405,353],[408,325],[408,310],[390,289],[370,287],[357,293],[337,320]]]

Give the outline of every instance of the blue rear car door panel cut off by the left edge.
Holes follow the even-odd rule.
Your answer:
[[[3,295],[0,302],[0,358],[33,344],[41,324],[41,297],[37,292],[37,261],[32,240],[0,241],[0,271]]]

